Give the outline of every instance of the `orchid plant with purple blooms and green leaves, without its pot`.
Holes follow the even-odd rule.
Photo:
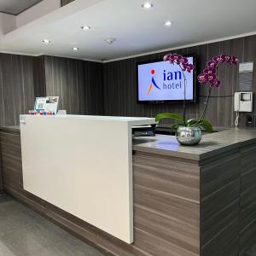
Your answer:
[[[207,84],[209,86],[207,102],[203,112],[201,113],[199,118],[196,119],[186,119],[186,85],[187,79],[185,73],[190,73],[195,69],[193,64],[189,64],[187,58],[183,57],[183,55],[177,54],[169,54],[164,56],[164,61],[169,61],[172,65],[178,65],[183,73],[184,79],[184,99],[183,99],[183,116],[177,113],[159,113],[155,120],[158,122],[161,119],[175,119],[178,121],[174,125],[171,126],[172,131],[177,131],[179,126],[188,126],[188,127],[201,127],[207,132],[212,132],[211,123],[205,119],[205,115],[207,112],[207,107],[209,103],[209,99],[211,96],[212,88],[219,87],[220,81],[218,79],[218,67],[220,67],[224,63],[229,63],[231,66],[236,65],[238,63],[238,59],[233,55],[218,55],[212,58],[212,60],[207,62],[207,67],[203,70],[197,79],[201,84]]]

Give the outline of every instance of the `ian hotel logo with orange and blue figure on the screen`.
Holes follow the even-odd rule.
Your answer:
[[[152,69],[151,70],[152,79],[151,79],[151,83],[149,84],[149,87],[148,87],[147,96],[154,87],[157,88],[158,90],[182,89],[182,81],[181,81],[182,73],[180,71],[175,71],[173,73],[172,72],[166,73],[166,70],[164,70],[164,72],[163,72],[163,81],[164,82],[163,82],[162,86],[159,86],[158,84],[155,83],[154,73],[155,73],[155,71],[154,71],[154,69]],[[180,81],[179,81],[179,83],[177,83],[177,82],[172,82],[173,80],[175,80],[175,81],[180,80]]]

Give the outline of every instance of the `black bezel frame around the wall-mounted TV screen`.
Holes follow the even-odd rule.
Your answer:
[[[194,74],[194,79],[193,79],[193,99],[192,100],[186,100],[186,102],[192,102],[195,103],[197,102],[197,95],[198,95],[198,87],[196,83],[196,55],[193,54],[188,54],[188,55],[183,55],[184,57],[193,57],[193,65],[195,66],[195,69],[193,70]],[[149,64],[149,63],[154,63],[154,62],[161,62],[163,59],[154,59],[150,61],[137,61],[136,63],[136,72],[137,72],[137,104],[148,104],[148,103],[178,103],[178,102],[183,102],[183,100],[159,100],[159,101],[140,101],[139,100],[139,84],[138,84],[138,66],[143,65],[143,64]],[[170,64],[171,65],[171,64]]]

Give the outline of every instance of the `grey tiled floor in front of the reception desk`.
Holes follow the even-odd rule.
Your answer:
[[[103,256],[38,213],[0,196],[0,256]]]

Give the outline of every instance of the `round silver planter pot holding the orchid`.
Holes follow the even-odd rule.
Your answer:
[[[182,145],[195,146],[200,143],[201,137],[200,127],[179,126],[176,131],[177,142]]]

